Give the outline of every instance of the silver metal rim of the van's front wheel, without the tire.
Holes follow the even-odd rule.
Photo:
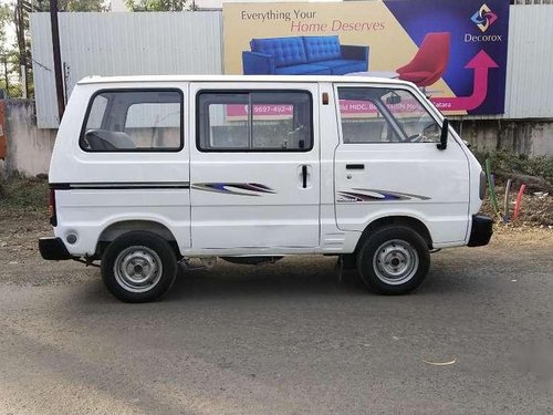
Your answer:
[[[384,242],[376,250],[373,269],[380,281],[398,286],[415,276],[418,263],[418,252],[409,242],[393,239]]]

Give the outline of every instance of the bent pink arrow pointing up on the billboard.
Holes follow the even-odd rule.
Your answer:
[[[490,58],[483,50],[478,52],[465,69],[474,70],[474,83],[472,86],[472,94],[470,96],[457,97],[434,97],[430,101],[440,111],[459,111],[459,110],[474,110],[479,107],[488,95],[488,71],[491,68],[499,68],[499,65]]]

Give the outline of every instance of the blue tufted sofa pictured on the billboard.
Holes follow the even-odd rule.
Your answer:
[[[334,37],[252,39],[242,52],[244,75],[344,75],[368,69],[368,46],[340,44]]]

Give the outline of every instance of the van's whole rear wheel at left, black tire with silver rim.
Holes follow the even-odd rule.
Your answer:
[[[111,242],[102,256],[102,279],[124,302],[158,300],[177,276],[177,258],[170,245],[153,232],[131,231]]]

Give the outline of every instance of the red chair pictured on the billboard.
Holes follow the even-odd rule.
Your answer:
[[[421,89],[437,82],[446,72],[450,42],[449,32],[427,33],[413,60],[396,70],[399,79],[410,81]]]

